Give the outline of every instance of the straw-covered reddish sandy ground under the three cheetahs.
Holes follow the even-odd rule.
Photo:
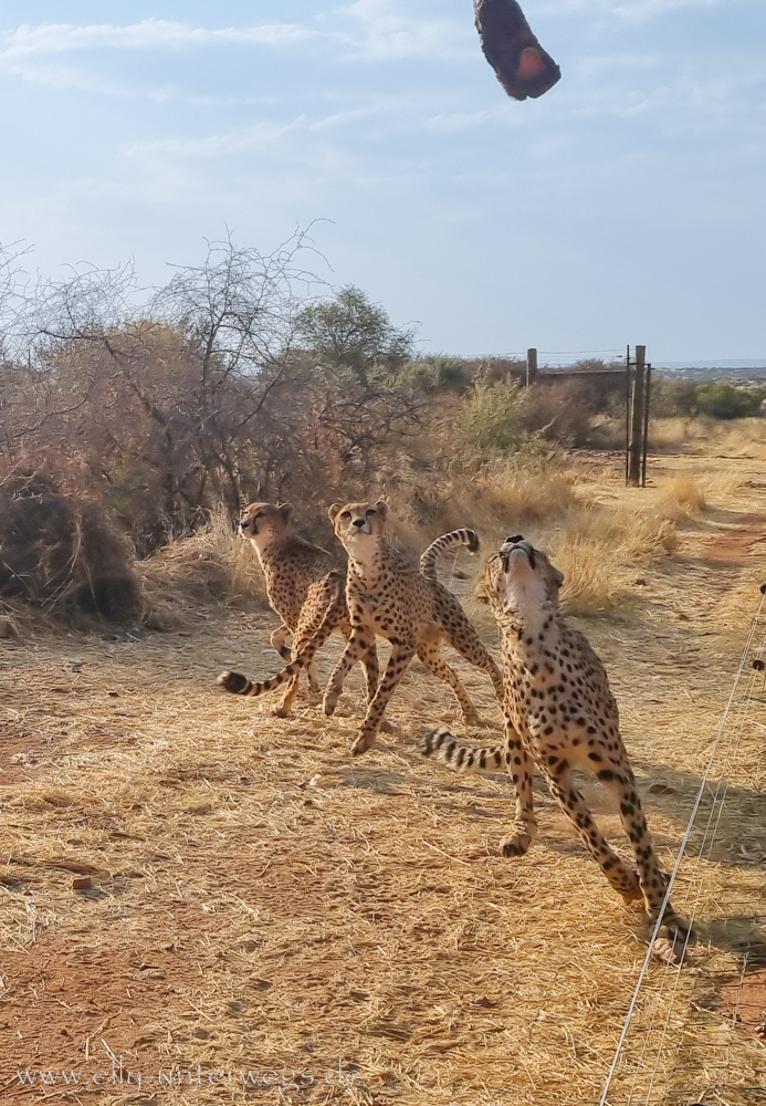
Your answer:
[[[562,520],[524,526],[554,547],[573,608],[597,615],[581,625],[609,667],[671,865],[766,578],[766,514],[746,458],[653,459],[652,472],[655,489],[626,492],[616,462],[581,457],[570,483],[591,505],[570,494]],[[501,503],[487,543],[506,522],[516,529]],[[521,860],[496,855],[507,782],[451,776],[417,754],[419,724],[455,719],[423,669],[394,700],[396,732],[354,761],[357,674],[329,721],[305,698],[281,720],[267,698],[220,695],[221,668],[265,675],[277,658],[269,614],[193,605],[219,578],[204,541],[193,571],[166,564],[186,588],[169,633],[0,641],[0,1102],[597,1103],[644,957],[640,914],[610,893],[542,782],[538,843]],[[447,568],[465,586],[469,561]],[[164,571],[147,586],[171,625]],[[483,608],[466,606],[494,640]],[[323,650],[325,672],[334,655]],[[458,667],[496,724],[483,674]],[[682,1060],[703,999],[732,1029],[732,927],[763,914],[763,748],[754,717],[703,864],[704,939],[668,1008]],[[622,848],[613,808],[586,794]],[[696,863],[684,862],[680,896]],[[653,966],[649,983],[664,971]],[[734,1026],[732,1085],[766,1076],[751,1029]],[[338,1057],[342,1085],[328,1074]],[[20,1085],[17,1070],[39,1068],[81,1082]],[[165,1085],[171,1071],[180,1086],[178,1074]],[[267,1085],[308,1071],[311,1084]],[[246,1087],[239,1072],[252,1073]],[[662,1078],[658,1100],[680,1102],[672,1073]],[[703,1100],[741,1100],[726,1094]]]

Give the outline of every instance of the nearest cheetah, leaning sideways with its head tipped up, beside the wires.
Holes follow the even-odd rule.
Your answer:
[[[657,921],[668,877],[652,847],[606,669],[587,638],[559,611],[563,580],[547,556],[524,538],[505,540],[489,561],[478,591],[490,603],[503,636],[504,743],[471,748],[440,728],[427,731],[421,751],[462,772],[505,765],[516,792],[516,815],[501,842],[504,856],[522,856],[535,838],[536,764],[610,885],[626,901],[642,899],[650,919]],[[575,768],[595,772],[618,800],[638,872],[605,841],[573,784]],[[663,925],[671,932],[684,931],[670,904]]]

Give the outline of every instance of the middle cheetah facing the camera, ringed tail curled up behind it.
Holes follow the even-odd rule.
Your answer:
[[[330,676],[324,697],[324,712],[335,711],[346,676],[356,660],[375,643],[376,634],[392,646],[386,672],[368,709],[351,752],[364,752],[379,729],[387,727],[386,707],[416,653],[430,670],[450,685],[463,711],[466,724],[481,724],[457,672],[441,657],[442,639],[462,653],[472,664],[484,668],[502,701],[503,680],[494,660],[460,606],[458,599],[436,577],[437,557],[453,545],[479,549],[473,530],[457,530],[438,538],[421,556],[421,571],[387,540],[384,502],[368,505],[349,503],[329,509],[335,532],[349,555],[345,599],[351,634],[340,660]],[[347,515],[347,518],[346,518]],[[273,691],[308,665],[332,633],[337,599],[325,596],[325,615],[314,637],[295,659],[277,676],[252,684],[237,672],[222,672],[218,680],[228,690],[243,695]],[[232,684],[234,686],[232,686]]]

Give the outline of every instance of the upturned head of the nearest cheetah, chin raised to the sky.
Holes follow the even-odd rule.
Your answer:
[[[516,534],[506,538],[500,552],[487,561],[476,595],[495,614],[523,614],[557,606],[563,581],[564,574],[550,564],[545,553]]]

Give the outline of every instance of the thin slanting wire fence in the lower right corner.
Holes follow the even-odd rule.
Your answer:
[[[655,927],[599,1106],[766,1104],[766,795],[741,782],[766,754],[764,591],[668,888],[693,937]]]

